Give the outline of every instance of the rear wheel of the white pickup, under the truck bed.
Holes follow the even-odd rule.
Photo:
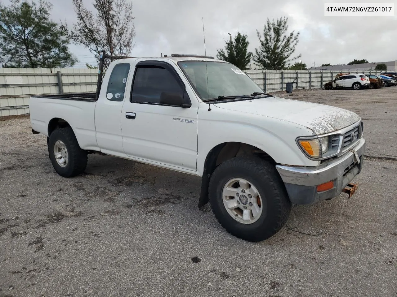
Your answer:
[[[55,171],[63,177],[83,173],[87,166],[87,152],[82,150],[69,127],[54,130],[48,139],[48,154]]]

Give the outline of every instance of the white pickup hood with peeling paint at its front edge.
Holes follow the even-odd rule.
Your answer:
[[[215,103],[215,106],[289,121],[309,128],[317,135],[345,128],[360,120],[356,113],[346,109],[279,97]]]

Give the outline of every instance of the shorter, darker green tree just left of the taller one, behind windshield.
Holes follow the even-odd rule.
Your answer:
[[[248,51],[248,36],[237,32],[234,41],[225,40],[225,49],[217,49],[216,57],[220,60],[227,61],[244,70],[251,62],[252,53]]]

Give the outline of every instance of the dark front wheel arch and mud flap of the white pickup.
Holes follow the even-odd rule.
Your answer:
[[[213,147],[207,154],[204,160],[204,171],[201,179],[201,189],[200,189],[200,198],[198,200],[198,207],[202,207],[208,203],[208,185],[210,182],[210,177],[214,172],[215,168],[236,156],[259,156],[260,158],[264,158],[268,160],[271,164],[276,165],[276,161],[264,150],[255,147],[254,145],[250,145],[247,143],[241,142],[224,142]]]

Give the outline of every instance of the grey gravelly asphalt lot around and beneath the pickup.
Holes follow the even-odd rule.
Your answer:
[[[278,95],[357,112],[368,150],[351,199],[260,243],[197,208],[198,177],[90,155],[64,179],[28,117],[0,118],[0,296],[397,296],[397,88]]]

